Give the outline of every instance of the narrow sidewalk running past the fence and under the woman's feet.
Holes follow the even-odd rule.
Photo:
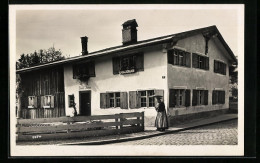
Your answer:
[[[132,134],[124,134],[124,135],[110,135],[110,136],[103,136],[103,137],[96,137],[95,139],[84,139],[83,141],[77,142],[68,142],[68,143],[60,143],[59,145],[102,145],[102,144],[110,144],[110,143],[118,143],[118,142],[125,142],[125,141],[133,141],[133,140],[140,140],[145,138],[150,138],[154,136],[184,131],[196,127],[206,126],[218,122],[224,122],[229,120],[237,119],[237,114],[224,114],[219,115],[217,117],[212,117],[208,119],[199,119],[195,120],[194,122],[178,125],[175,127],[169,127],[168,130],[164,132],[156,131],[155,127],[145,127],[144,132],[139,133],[132,133]]]

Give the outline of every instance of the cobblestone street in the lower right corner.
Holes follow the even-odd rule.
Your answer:
[[[115,145],[237,145],[237,120]]]

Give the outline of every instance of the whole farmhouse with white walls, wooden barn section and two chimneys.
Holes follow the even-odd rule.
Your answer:
[[[21,118],[145,112],[154,125],[154,94],[163,96],[171,123],[229,107],[229,66],[237,60],[216,26],[137,41],[126,21],[122,45],[17,70],[25,88]],[[204,114],[205,115],[205,114]],[[176,119],[177,120],[177,119]]]

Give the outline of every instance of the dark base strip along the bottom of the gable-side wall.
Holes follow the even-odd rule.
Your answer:
[[[177,116],[168,116],[169,126],[174,127],[178,124],[189,123],[198,119],[215,117],[222,114],[230,113],[230,109],[213,110],[193,114],[184,114]]]

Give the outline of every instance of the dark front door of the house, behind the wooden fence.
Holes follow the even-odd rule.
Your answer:
[[[91,115],[91,92],[79,92],[79,114],[82,116]]]

